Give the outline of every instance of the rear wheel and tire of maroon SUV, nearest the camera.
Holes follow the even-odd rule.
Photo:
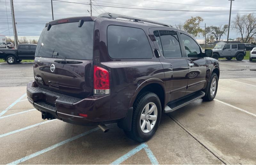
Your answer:
[[[139,142],[149,140],[156,133],[161,114],[162,108],[158,96],[152,92],[141,94],[133,106],[132,129],[124,130],[124,133]]]

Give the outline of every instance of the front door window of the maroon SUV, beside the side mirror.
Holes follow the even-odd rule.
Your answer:
[[[181,34],[181,39],[184,43],[187,56],[198,57],[201,52],[200,47],[197,45],[196,41],[186,34]]]

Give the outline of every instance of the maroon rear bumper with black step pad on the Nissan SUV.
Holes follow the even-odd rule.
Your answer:
[[[115,123],[119,119],[111,118],[110,95],[80,99],[37,87],[33,81],[27,84],[27,96],[38,111],[68,123],[94,126]],[[87,117],[81,117],[79,113]]]

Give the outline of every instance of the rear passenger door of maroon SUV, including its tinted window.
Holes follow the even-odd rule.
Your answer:
[[[185,96],[188,84],[188,63],[181,48],[180,36],[176,30],[170,28],[150,28],[156,41],[155,47],[160,53],[160,62],[163,64],[166,100],[173,101]]]

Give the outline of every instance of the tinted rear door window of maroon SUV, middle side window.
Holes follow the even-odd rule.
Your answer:
[[[164,57],[181,57],[180,42],[177,33],[174,31],[160,30],[159,34],[161,42],[158,41],[157,44],[160,44],[159,47],[162,47],[161,52],[164,54]]]

